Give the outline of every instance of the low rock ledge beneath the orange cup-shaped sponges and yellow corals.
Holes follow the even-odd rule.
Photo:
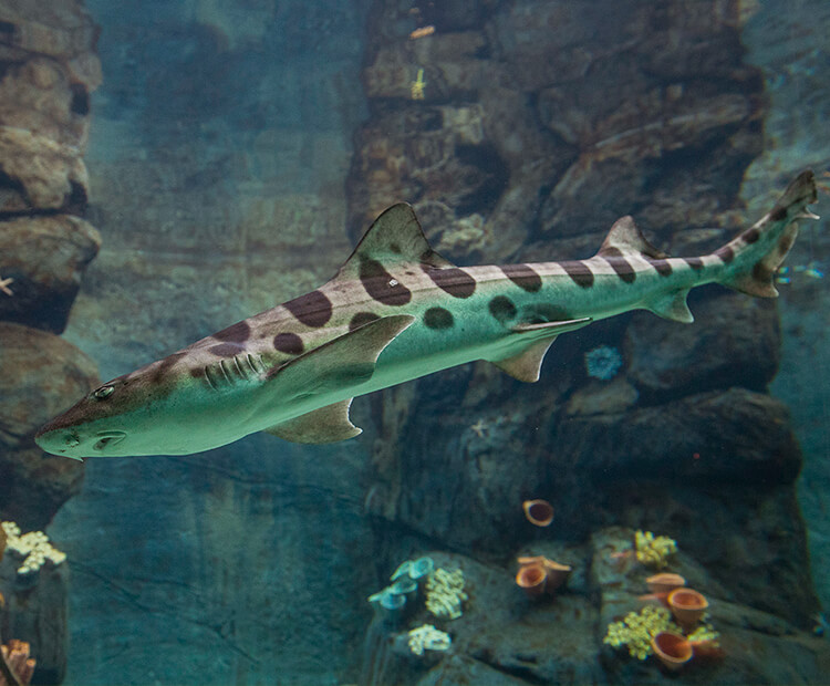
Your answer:
[[[579,545],[538,540],[513,549],[517,555],[541,554],[573,568],[566,588],[536,600],[516,585],[513,559],[481,564],[464,554],[430,552],[436,565],[464,574],[468,600],[461,616],[436,617],[417,601],[397,623],[376,615],[364,643],[363,683],[662,683],[664,672],[654,656],[637,659],[625,646],[603,643],[612,622],[627,612],[660,606],[658,601],[642,597],[649,591],[645,579],[653,571],[625,553],[633,539],[634,531],[612,527],[596,530]],[[830,668],[830,652],[821,638],[736,601],[683,550],[672,559],[671,570],[704,593],[709,602],[708,621],[719,633],[717,655],[696,656],[672,680],[821,683]],[[407,631],[425,623],[449,634],[447,653],[426,651],[418,656],[408,648]]]

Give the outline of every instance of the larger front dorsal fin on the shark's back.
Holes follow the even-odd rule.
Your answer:
[[[366,262],[414,262],[439,269],[454,267],[432,249],[418,218],[406,202],[393,205],[375,219],[335,279],[354,278],[360,273],[361,262],[364,262],[364,268]]]

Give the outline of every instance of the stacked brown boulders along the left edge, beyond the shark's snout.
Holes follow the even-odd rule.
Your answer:
[[[82,219],[97,29],[80,0],[0,7],[0,519],[43,529],[79,492],[82,462],[43,454],[37,429],[97,382],[66,326],[101,238]],[[21,581],[6,555],[3,638],[32,645],[35,683],[66,672],[66,565]],[[29,574],[28,576],[32,576]]]

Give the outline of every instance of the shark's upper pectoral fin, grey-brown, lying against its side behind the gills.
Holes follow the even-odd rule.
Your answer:
[[[412,314],[382,316],[276,367],[267,382],[273,383],[283,405],[362,384],[374,374],[383,349],[414,321]],[[295,388],[298,394],[286,397],[286,388]]]

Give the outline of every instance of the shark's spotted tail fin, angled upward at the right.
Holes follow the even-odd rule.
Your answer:
[[[816,200],[816,178],[808,169],[757,224],[715,251],[726,266],[719,282],[750,295],[776,298],[775,273],[798,236],[796,220],[818,219],[807,209]]]

